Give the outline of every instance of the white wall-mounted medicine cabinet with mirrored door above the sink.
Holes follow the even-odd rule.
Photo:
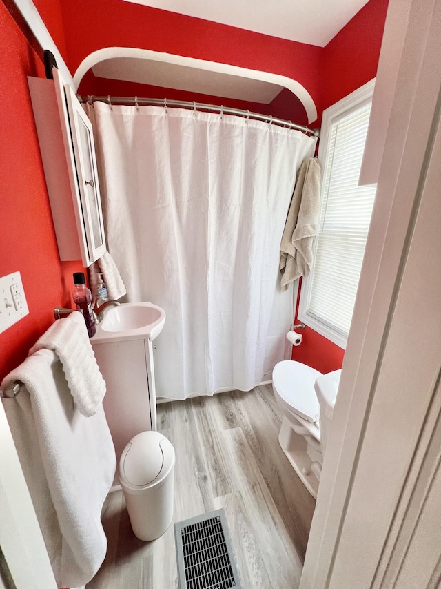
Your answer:
[[[60,260],[84,267],[105,252],[105,235],[92,125],[72,88],[28,77],[32,108]]]

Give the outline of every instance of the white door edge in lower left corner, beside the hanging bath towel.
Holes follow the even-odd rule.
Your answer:
[[[1,403],[0,449],[0,587],[57,589]]]

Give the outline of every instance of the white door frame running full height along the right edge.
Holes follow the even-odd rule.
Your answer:
[[[433,509],[441,405],[441,1],[391,0],[389,48],[392,16],[403,8],[378,193],[300,589],[422,589],[441,554],[429,541],[416,561],[418,585],[400,577],[429,496]],[[380,61],[374,101],[382,74]]]

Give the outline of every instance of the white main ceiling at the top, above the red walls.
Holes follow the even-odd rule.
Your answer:
[[[324,47],[368,0],[125,0]]]

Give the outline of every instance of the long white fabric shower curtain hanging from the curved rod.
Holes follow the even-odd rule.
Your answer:
[[[156,394],[249,390],[289,354],[278,276],[315,139],[240,117],[95,103],[109,251],[130,301],[167,313]]]

